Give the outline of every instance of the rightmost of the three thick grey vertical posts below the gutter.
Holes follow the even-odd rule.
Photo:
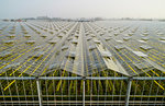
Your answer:
[[[132,78],[129,78],[129,80],[128,80],[128,89],[127,89],[127,96],[125,96],[125,106],[129,106],[131,84],[132,84]]]

